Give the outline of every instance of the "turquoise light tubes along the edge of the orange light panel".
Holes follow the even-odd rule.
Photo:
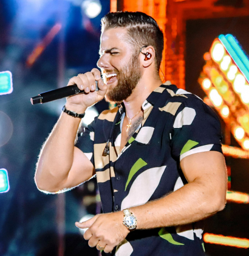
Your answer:
[[[237,67],[240,69],[240,71],[244,74],[245,78],[249,82],[249,68],[248,63],[249,60],[245,53],[240,48],[239,44],[236,42],[234,37],[230,34],[228,35],[219,35],[219,40],[225,46],[228,53],[236,63]]]

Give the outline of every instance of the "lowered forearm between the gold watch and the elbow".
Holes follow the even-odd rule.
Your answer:
[[[208,184],[191,182],[157,201],[130,210],[137,217],[138,229],[188,224],[223,209],[225,189],[211,191]]]

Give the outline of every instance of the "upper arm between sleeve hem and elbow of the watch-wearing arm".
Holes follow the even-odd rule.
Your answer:
[[[200,182],[210,189],[223,193],[227,190],[227,168],[225,159],[220,152],[208,151],[188,155],[180,162],[186,178],[191,182]]]

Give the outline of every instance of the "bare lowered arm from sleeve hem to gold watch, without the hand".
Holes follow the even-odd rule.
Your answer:
[[[157,201],[131,208],[137,216],[138,229],[196,222],[225,207],[227,171],[221,153],[189,155],[180,166],[188,184]]]

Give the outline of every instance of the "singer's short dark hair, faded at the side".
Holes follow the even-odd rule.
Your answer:
[[[109,12],[101,19],[101,32],[104,29],[127,27],[128,43],[137,46],[137,50],[143,46],[153,46],[157,59],[157,71],[159,71],[163,56],[163,32],[159,25],[149,15],[143,12]]]

